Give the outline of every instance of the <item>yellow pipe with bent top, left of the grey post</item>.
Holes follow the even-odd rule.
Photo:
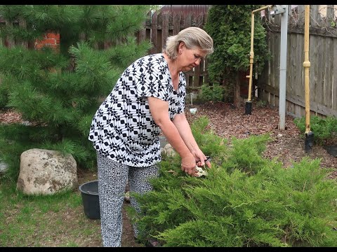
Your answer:
[[[272,7],[271,5],[263,6],[251,12],[251,52],[249,53],[249,64],[250,64],[249,76],[246,76],[246,78],[249,78],[248,99],[247,99],[246,107],[245,107],[246,115],[251,115],[251,82],[253,78],[253,62],[254,62],[254,49],[253,49],[254,48],[254,13],[260,10],[265,10],[266,8],[271,8],[271,7]]]

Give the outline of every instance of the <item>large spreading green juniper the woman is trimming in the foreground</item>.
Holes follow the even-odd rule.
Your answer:
[[[162,246],[337,246],[337,185],[320,160],[285,169],[262,157],[268,135],[227,144],[205,130],[205,120],[192,129],[213,158],[209,175],[187,176],[176,155],[161,162],[152,192],[131,194],[142,211],[128,211],[142,239]]]

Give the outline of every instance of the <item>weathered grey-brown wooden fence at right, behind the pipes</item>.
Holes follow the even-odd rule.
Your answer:
[[[310,6],[310,113],[337,116],[337,6]],[[266,13],[265,28],[272,59],[258,77],[258,96],[279,106],[280,15]],[[286,111],[305,116],[304,6],[291,10],[286,57]]]

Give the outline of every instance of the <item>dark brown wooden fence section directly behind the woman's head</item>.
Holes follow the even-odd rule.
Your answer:
[[[144,29],[138,31],[138,41],[149,39],[153,45],[150,53],[162,51],[166,38],[176,35],[187,27],[202,28],[206,22],[207,13],[170,13],[154,12],[144,24]],[[200,87],[208,81],[206,71],[207,59],[201,59],[199,66],[185,72],[187,87]]]

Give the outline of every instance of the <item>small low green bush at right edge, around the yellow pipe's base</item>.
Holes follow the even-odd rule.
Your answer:
[[[302,118],[295,118],[293,123],[295,123],[301,133],[305,133],[305,116]],[[329,145],[336,139],[337,118],[333,116],[327,116],[326,118],[310,116],[310,130],[314,133],[315,144]]]

